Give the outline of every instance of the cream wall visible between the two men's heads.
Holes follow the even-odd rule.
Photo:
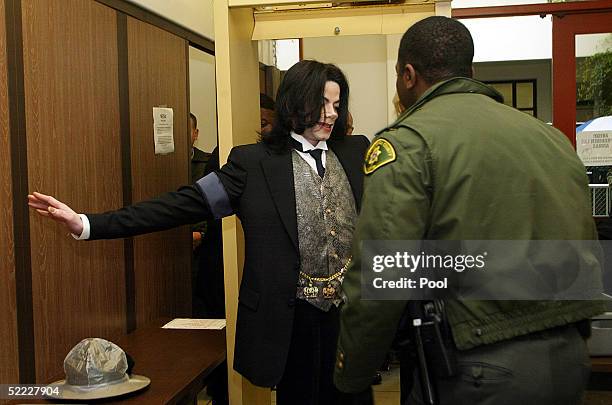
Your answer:
[[[387,124],[387,52],[383,35],[305,38],[304,59],[338,65],[350,86],[354,134],[370,138]]]

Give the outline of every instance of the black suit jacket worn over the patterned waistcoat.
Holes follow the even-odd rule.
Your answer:
[[[363,191],[367,138],[329,141],[346,172],[357,209]],[[263,143],[232,149],[216,172],[245,237],[234,368],[255,385],[280,381],[291,341],[300,268],[291,152]],[[153,200],[89,215],[91,238],[117,238],[193,223],[212,216],[206,190],[182,187]]]

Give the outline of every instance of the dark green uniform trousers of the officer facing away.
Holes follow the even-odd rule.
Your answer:
[[[435,379],[440,405],[578,405],[591,366],[575,325],[457,351],[457,361],[457,375]],[[417,374],[410,405],[424,405]]]

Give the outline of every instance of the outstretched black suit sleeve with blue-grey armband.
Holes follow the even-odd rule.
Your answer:
[[[89,240],[125,238],[232,215],[246,185],[246,170],[235,149],[220,170],[194,185],[116,211],[86,214]]]

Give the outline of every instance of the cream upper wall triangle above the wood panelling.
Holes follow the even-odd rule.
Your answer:
[[[128,0],[214,40],[213,0]]]

